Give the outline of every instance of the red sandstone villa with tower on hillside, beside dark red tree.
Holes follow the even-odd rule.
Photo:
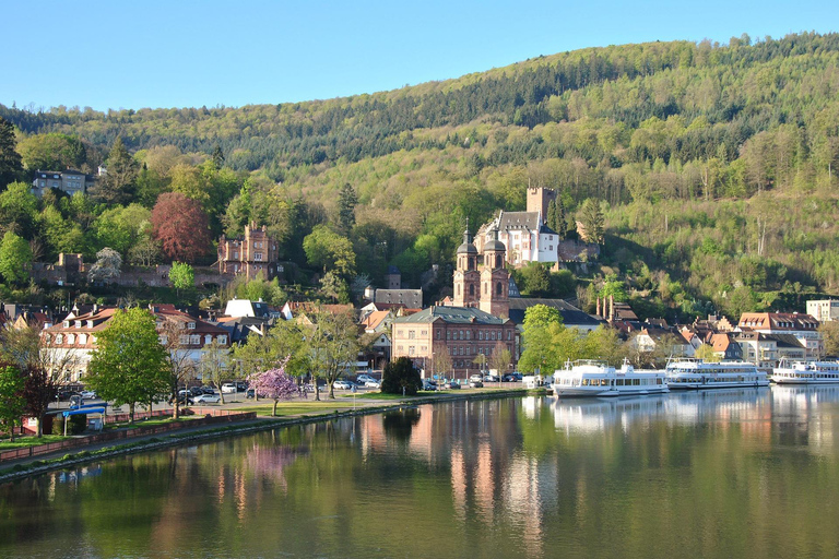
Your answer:
[[[264,225],[246,225],[244,237],[228,239],[222,235],[218,240],[218,272],[224,275],[253,280],[262,274],[265,280],[273,280],[280,272],[279,258],[276,239],[268,235]]]

